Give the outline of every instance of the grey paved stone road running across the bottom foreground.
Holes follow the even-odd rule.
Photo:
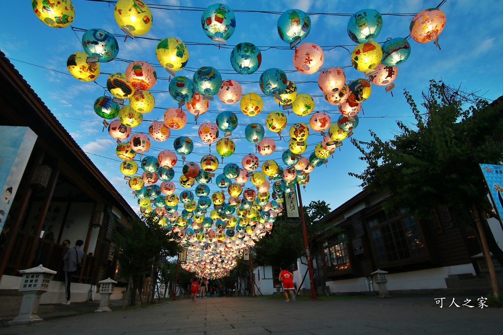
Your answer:
[[[466,297],[457,297],[462,305]],[[477,306],[476,297],[470,297]],[[284,303],[265,298],[180,300],[0,328],[0,334],[497,334],[503,309],[448,307],[434,297]]]

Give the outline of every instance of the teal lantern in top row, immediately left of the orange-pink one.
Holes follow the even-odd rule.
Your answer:
[[[376,10],[356,12],[349,19],[348,35],[355,43],[370,42],[379,35],[382,28],[382,16]]]

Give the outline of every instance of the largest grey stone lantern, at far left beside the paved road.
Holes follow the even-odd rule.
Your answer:
[[[42,264],[35,268],[19,271],[23,275],[19,292],[23,293],[23,300],[19,315],[10,324],[31,323],[41,321],[37,315],[40,296],[47,292],[49,283],[56,271],[44,268]]]

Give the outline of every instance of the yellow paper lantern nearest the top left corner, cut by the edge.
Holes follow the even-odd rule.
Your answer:
[[[53,28],[68,27],[75,18],[75,9],[70,0],[42,1],[32,0],[33,12],[35,15]]]

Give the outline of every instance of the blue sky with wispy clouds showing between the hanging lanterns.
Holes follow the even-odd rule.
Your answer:
[[[150,0],[148,4],[182,5],[189,7],[206,8],[213,1],[161,1]],[[387,38],[406,37],[409,34],[409,23],[413,15],[421,10],[436,7],[440,0],[412,0],[412,1],[276,1],[276,2],[248,2],[248,1],[223,1],[233,10],[273,11],[284,12],[291,8],[297,8],[307,13],[342,13],[353,14],[359,10],[371,8],[381,14],[410,14],[410,16],[383,16],[383,29],[375,39],[382,43]],[[97,3],[81,0],[73,0],[75,6],[75,20],[73,27],[82,29],[101,28],[113,34],[123,34],[114,20],[114,6],[107,3]],[[396,120],[413,122],[410,109],[403,97],[403,89],[412,93],[416,102],[421,102],[421,91],[426,89],[430,79],[444,80],[449,85],[462,87],[467,90],[477,90],[489,100],[495,99],[503,93],[501,77],[503,74],[500,53],[501,24],[503,6],[498,1],[482,0],[451,0],[441,8],[447,17],[447,24],[440,35],[439,44],[442,50],[436,48],[433,42],[419,44],[409,40],[411,44],[410,57],[399,65],[399,74],[394,81],[396,88],[394,96],[384,91],[382,86],[372,86],[372,95],[362,103],[364,115],[359,114],[360,124],[354,131],[354,138],[369,140],[369,130],[375,132],[382,139],[389,139],[397,131]],[[136,210],[136,199],[131,194],[126,180],[119,171],[120,160],[115,155],[115,140],[108,132],[102,132],[102,119],[93,110],[93,103],[97,97],[104,94],[103,88],[93,82],[79,82],[68,75],[66,60],[76,51],[82,51],[80,39],[82,32],[73,32],[70,27],[63,29],[51,28],[44,25],[33,13],[29,1],[11,2],[9,13],[0,22],[0,49],[11,59],[11,62],[23,75],[35,92],[42,98],[59,122],[68,130],[83,151],[87,152],[91,160],[114,184],[116,189]],[[12,15],[17,13],[16,15]],[[189,62],[187,67],[199,68],[201,66],[213,66],[221,70],[223,79],[234,79],[240,82],[254,81],[254,83],[242,83],[243,93],[255,92],[262,94],[258,81],[260,73],[268,68],[277,67],[282,70],[293,70],[293,50],[268,49],[266,47],[287,46],[278,36],[277,20],[279,15],[265,13],[236,13],[236,30],[227,41],[228,45],[240,42],[250,42],[262,49],[262,65],[258,72],[251,75],[230,74],[232,67],[229,62],[231,49],[218,49],[204,34],[201,24],[202,11],[167,11],[152,9],[153,27],[143,37],[163,39],[176,37],[182,41],[207,43],[208,45],[188,45]],[[316,43],[325,49],[325,60],[321,69],[334,66],[350,66],[351,54],[343,48],[330,48],[328,46],[346,45],[352,51],[356,46],[349,38],[346,30],[348,17],[311,15],[312,28],[303,42]],[[157,41],[136,38],[134,40],[117,38],[119,42],[118,58],[130,61],[141,60],[158,65],[155,57]],[[326,48],[325,48],[326,47]],[[266,50],[267,49],[267,50]],[[331,49],[331,50],[328,50]],[[38,65],[29,65],[27,63]],[[102,74],[97,82],[106,86],[108,75],[113,72],[124,72],[128,63],[114,60],[110,63],[101,63]],[[56,71],[44,69],[49,68]],[[225,71],[227,70],[227,71]],[[348,68],[346,77],[348,80],[362,78],[363,73],[353,68]],[[169,75],[162,69],[157,68],[159,77]],[[328,104],[322,92],[317,86],[319,72],[311,75],[299,72],[287,73],[289,80],[297,83],[299,93],[308,93],[314,97],[315,110],[327,111],[332,122],[337,121],[339,113],[337,106]],[[185,75],[192,78],[193,72],[181,70],[177,75]],[[305,83],[298,83],[298,82]],[[145,120],[162,120],[165,109],[177,106],[177,103],[168,93],[167,80],[158,80],[152,88],[156,108],[150,113],[143,115]],[[271,97],[263,97],[264,109],[256,117],[244,116],[239,109],[239,104],[225,105],[217,98],[210,102],[210,111],[200,116],[194,124],[194,116],[187,112],[188,124],[183,129],[174,130],[171,138],[166,142],[152,141],[152,146],[147,155],[157,156],[159,150],[169,149],[173,151],[173,140],[179,136],[189,136],[196,140],[194,152],[187,156],[187,161],[200,162],[201,157],[207,154],[208,147],[199,143],[197,130],[203,122],[215,122],[220,111],[234,111],[238,118],[239,126],[232,133],[236,144],[236,153],[224,159],[217,174],[222,173],[226,163],[238,163],[240,165],[242,155],[254,153],[255,148],[243,138],[244,128],[247,124],[258,122],[264,124],[267,114],[273,110],[281,110]],[[185,108],[184,108],[185,109]],[[186,110],[186,109],[185,109]],[[309,117],[296,117],[293,113],[288,116],[288,124],[294,122],[309,123]],[[150,122],[144,121],[142,125],[133,129],[134,132],[148,132]],[[289,128],[289,126],[287,126]],[[287,133],[286,131],[283,133]],[[221,135],[221,137],[223,134]],[[277,134],[266,130],[266,137],[277,141],[276,152],[271,156],[259,156],[261,161],[265,159],[279,159],[287,149],[288,144],[279,141]],[[312,153],[314,145],[321,141],[321,136],[314,134],[308,139],[308,150],[305,155]],[[354,148],[349,140],[343,141],[344,145],[328,159],[328,163],[316,168],[310,174],[310,181],[302,190],[304,204],[313,200],[325,200],[332,209],[349,200],[362,189],[358,186],[360,180],[348,176],[348,172],[360,172],[365,168],[364,163],[358,158],[360,153]],[[216,155],[214,145],[211,153]],[[103,157],[101,157],[103,156]],[[178,180],[183,163],[179,162],[175,167]],[[176,193],[182,188],[177,184]],[[219,190],[214,184],[212,190]],[[247,182],[246,187],[253,187]],[[194,187],[192,188],[194,189]]]

